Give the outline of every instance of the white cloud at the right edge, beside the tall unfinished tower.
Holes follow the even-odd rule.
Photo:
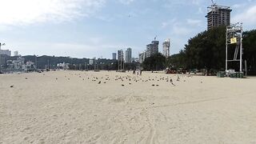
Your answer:
[[[256,23],[256,5],[235,15],[232,22],[243,22],[246,25],[254,25]]]

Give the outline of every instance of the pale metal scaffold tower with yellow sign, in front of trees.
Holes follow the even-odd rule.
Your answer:
[[[230,46],[235,46],[230,50]],[[229,53],[234,53],[233,58],[229,58]],[[229,69],[229,62],[239,62],[240,73],[242,73],[242,23],[235,23],[226,26],[226,71]]]

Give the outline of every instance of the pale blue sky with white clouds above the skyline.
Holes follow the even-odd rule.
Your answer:
[[[215,0],[230,6],[231,22],[256,27],[256,0]],[[171,54],[206,30],[210,0],[0,0],[2,49],[22,55],[111,58],[146,50],[154,37],[171,40]]]

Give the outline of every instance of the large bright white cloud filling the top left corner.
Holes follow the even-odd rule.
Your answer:
[[[106,0],[0,0],[0,25],[70,21],[90,16]]]

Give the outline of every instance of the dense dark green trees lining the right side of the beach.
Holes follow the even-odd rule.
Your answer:
[[[256,30],[246,31],[243,37],[243,59],[247,62],[249,74],[256,74]],[[230,47],[229,57],[234,55],[235,46]],[[232,50],[233,49],[233,50]],[[206,69],[208,72],[225,70],[226,59],[226,27],[220,26],[206,30],[190,38],[183,50],[169,58],[155,54],[143,62],[145,70],[173,69]],[[238,70],[238,62],[230,63],[230,68]]]

